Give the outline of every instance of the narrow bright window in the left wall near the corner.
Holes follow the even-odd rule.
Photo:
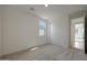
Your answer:
[[[45,21],[43,19],[40,19],[39,21],[39,35],[45,35]]]

